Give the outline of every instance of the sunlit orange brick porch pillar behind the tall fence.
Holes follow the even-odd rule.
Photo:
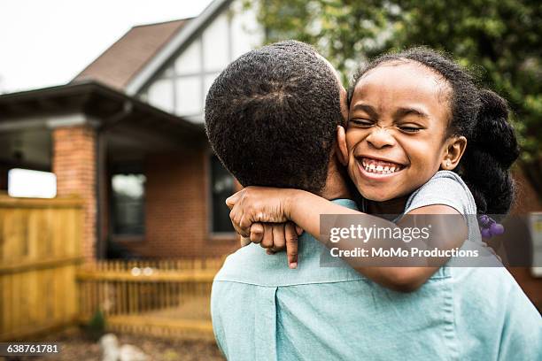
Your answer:
[[[80,196],[84,202],[82,255],[95,258],[96,249],[96,131],[89,126],[53,129],[52,172],[58,196]]]

